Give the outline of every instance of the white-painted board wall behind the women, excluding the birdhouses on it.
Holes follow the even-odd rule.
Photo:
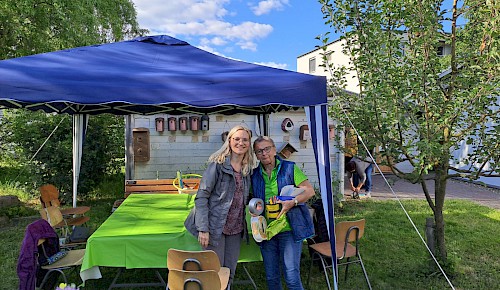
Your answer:
[[[189,115],[183,115],[189,117]],[[202,174],[208,157],[222,146],[221,133],[229,131],[236,125],[244,125],[252,130],[252,141],[260,135],[255,116],[243,114],[224,116],[210,115],[209,131],[174,131],[157,132],[155,118],[162,117],[167,121],[169,115],[141,116],[134,115],[133,128],[148,128],[150,132],[150,160],[135,162],[134,179],[175,178],[176,172]],[[179,116],[176,116],[179,117]],[[284,132],[281,123],[290,118],[294,123],[291,132]],[[165,122],[166,123],[166,122]],[[288,160],[294,161],[303,169],[313,186],[318,186],[316,162],[311,140],[300,141],[300,126],[307,125],[304,110],[271,114],[269,122],[270,137],[279,149],[289,142],[298,152]],[[329,122],[333,124],[333,122]],[[166,125],[166,124],[165,124]],[[333,139],[331,139],[333,144]],[[332,145],[330,152],[333,152]],[[333,156],[333,155],[332,155]],[[335,160],[332,159],[332,164]]]

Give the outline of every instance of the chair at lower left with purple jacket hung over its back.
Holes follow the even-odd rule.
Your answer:
[[[44,243],[46,242],[45,239],[40,239],[38,240],[38,245],[42,248],[42,255],[45,256],[45,258],[48,258],[48,255],[45,251]],[[66,251],[66,255],[56,262],[50,264],[50,265],[45,265],[45,266],[40,266],[41,269],[46,270],[47,272],[45,273],[45,276],[42,279],[42,282],[40,283],[40,289],[43,289],[43,286],[47,282],[48,278],[50,277],[50,273],[52,272],[58,272],[62,275],[64,283],[68,283],[68,279],[66,278],[66,274],[64,273],[65,270],[73,270],[76,271],[78,266],[82,265],[83,262],[83,256],[85,255],[85,249],[81,250],[70,250]],[[38,259],[37,259],[38,260]]]

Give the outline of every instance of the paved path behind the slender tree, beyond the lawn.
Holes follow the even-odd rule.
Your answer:
[[[397,194],[400,199],[424,199],[424,192],[420,184],[411,184],[402,179],[398,179],[396,176],[389,174],[385,175],[386,179],[392,186],[392,189]],[[380,199],[395,199],[389,186],[385,183],[382,175],[373,175],[373,189],[372,198]],[[434,184],[432,182],[427,183],[429,192],[432,197],[434,197]],[[346,179],[344,194],[346,198],[350,198],[351,190]],[[489,206],[500,210],[500,190],[494,188],[488,188],[480,185],[476,185],[469,182],[459,181],[459,180],[448,180],[446,188],[446,198],[447,199],[469,199],[477,202],[481,205]]]

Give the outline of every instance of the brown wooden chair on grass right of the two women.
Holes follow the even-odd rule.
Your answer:
[[[364,232],[365,219],[357,221],[344,221],[339,222],[335,225],[335,237],[337,239],[335,243],[337,252],[337,266],[346,266],[344,280],[347,280],[347,271],[349,269],[349,265],[359,263],[361,265],[361,269],[363,270],[363,274],[365,275],[368,288],[372,289],[370,280],[368,279],[368,274],[366,274],[365,266],[363,265],[363,260],[361,259],[361,254],[359,253],[359,239],[361,239]],[[331,290],[332,288],[330,286],[329,271],[327,271],[327,269],[332,270],[333,265],[333,263],[331,263],[332,251],[330,247],[330,241],[311,244],[309,245],[309,248],[311,249],[312,255],[307,284],[309,285],[313,263],[314,261],[319,260],[321,261],[321,265],[323,267],[323,272],[325,274],[328,289]],[[351,260],[351,258],[355,259]]]

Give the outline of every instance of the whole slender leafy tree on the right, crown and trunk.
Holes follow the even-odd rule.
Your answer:
[[[347,114],[363,139],[381,148],[383,163],[395,174],[422,184],[446,260],[446,181],[499,172],[500,2],[319,2],[351,60],[350,67],[332,67],[332,113],[346,123]],[[329,42],[328,33],[322,40]],[[440,57],[443,44],[449,55]],[[357,73],[359,95],[342,90],[347,70]],[[465,144],[466,156],[454,157]],[[402,161],[411,163],[413,172],[395,166]],[[434,199],[426,179],[434,181]]]

